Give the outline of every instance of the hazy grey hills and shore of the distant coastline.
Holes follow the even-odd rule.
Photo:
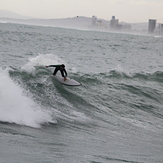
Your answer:
[[[110,20],[98,19],[96,25],[92,23],[93,17],[76,16],[72,18],[62,19],[38,19],[27,16],[22,16],[14,12],[0,10],[0,22],[1,23],[16,23],[26,25],[38,25],[38,26],[51,26],[62,28],[73,28],[83,30],[100,30],[100,31],[114,31],[114,32],[127,32],[127,33],[140,33],[147,34],[148,22],[144,23],[125,23],[120,22],[120,25],[125,24],[131,26],[128,30],[112,30],[110,29]]]

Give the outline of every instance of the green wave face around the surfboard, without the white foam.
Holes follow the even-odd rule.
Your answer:
[[[36,103],[50,109],[59,123],[85,124],[92,119],[116,125],[112,117],[119,117],[148,124],[153,123],[149,119],[163,118],[162,72],[132,75],[116,70],[98,74],[71,72],[71,78],[82,83],[76,88],[56,83],[50,74],[43,66],[35,66],[32,72],[10,71],[11,78],[29,91]]]

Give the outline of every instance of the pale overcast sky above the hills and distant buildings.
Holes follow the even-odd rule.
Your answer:
[[[120,22],[163,23],[163,0],[0,0],[0,10],[47,19],[95,15],[110,20],[114,15]]]

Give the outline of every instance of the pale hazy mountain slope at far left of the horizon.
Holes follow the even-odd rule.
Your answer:
[[[11,19],[33,19],[29,16],[23,16],[12,11],[0,10],[0,18],[11,18]]]

